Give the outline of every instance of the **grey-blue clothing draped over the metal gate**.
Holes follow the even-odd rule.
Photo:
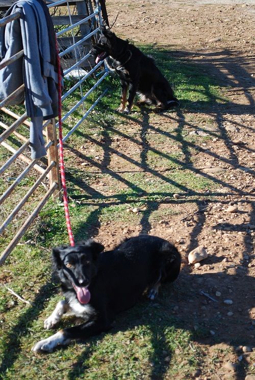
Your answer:
[[[55,31],[42,0],[20,0],[6,16],[19,11],[19,19],[0,28],[0,58],[8,59],[24,49],[24,57],[0,70],[0,99],[25,85],[24,93],[10,104],[25,102],[31,118],[31,157],[46,154],[42,135],[43,120],[58,115],[58,72]]]

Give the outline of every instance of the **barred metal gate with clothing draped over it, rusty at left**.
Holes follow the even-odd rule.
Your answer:
[[[77,76],[77,82],[72,85],[72,87],[63,93],[62,95],[62,101],[67,99],[68,96],[70,96],[74,91],[77,91],[77,89],[80,88],[80,100],[75,103],[71,109],[62,116],[62,121],[65,121],[75,110],[77,110],[79,107],[83,107],[83,115],[81,119],[75,123],[75,125],[71,128],[71,130],[65,135],[63,138],[63,141],[66,141],[70,135],[79,127],[79,125],[86,119],[86,117],[89,115],[89,113],[93,110],[93,108],[96,106],[96,104],[99,102],[99,100],[104,96],[107,90],[105,90],[103,93],[101,93],[98,98],[94,101],[92,105],[89,106],[89,108],[86,108],[86,99],[88,96],[100,85],[101,82],[106,78],[108,75],[107,67],[105,67],[104,62],[99,62],[94,67],[91,67],[89,70],[84,71],[84,67],[87,67],[85,63],[91,62],[89,59],[91,59],[91,55],[89,52],[84,52],[84,43],[86,41],[91,41],[91,39],[96,39],[99,34],[99,25],[101,24],[101,9],[100,4],[98,0],[94,2],[94,8],[92,7],[90,0],[83,0],[83,2],[80,2],[80,9],[82,6],[86,5],[87,9],[87,15],[86,17],[80,18],[77,22],[73,22],[73,8],[69,5],[69,3],[66,0],[61,0],[58,2],[55,2],[53,4],[48,5],[48,8],[54,8],[57,9],[59,6],[66,5],[66,10],[68,13],[68,17],[70,20],[70,25],[61,28],[60,31],[57,33],[57,37],[59,39],[65,38],[66,35],[70,36],[71,34],[71,41],[72,44],[66,48],[63,48],[63,44],[60,44],[60,57],[68,57],[69,53],[72,52],[72,56],[75,57],[75,62],[70,66],[66,67],[64,69],[64,76],[67,77],[70,74],[75,72],[75,75]],[[83,4],[82,4],[83,3]],[[73,4],[73,3],[72,3]],[[85,9],[85,8],[83,8]],[[88,14],[89,13],[89,14]],[[84,15],[84,14],[83,14]],[[8,22],[11,22],[14,19],[17,19],[20,17],[20,13],[16,12],[14,15],[8,16],[0,20],[0,28],[4,25],[6,25]],[[84,25],[86,23],[89,23],[90,28],[87,30],[87,34],[84,35],[84,30],[82,31],[81,25]],[[83,32],[83,35],[79,36],[79,38],[76,35],[74,36],[74,31],[77,34],[78,28],[80,29],[80,32]],[[68,37],[69,38],[69,37]],[[69,38],[70,40],[70,38]],[[88,47],[90,44],[86,44]],[[24,54],[24,51],[21,50],[18,52],[15,56],[11,57],[8,60],[2,61],[0,63],[0,70],[4,68],[7,65],[10,65],[15,60],[22,57]],[[103,70],[101,69],[101,72],[97,75],[100,75],[99,79],[94,80],[93,86],[84,94],[82,89],[82,84],[86,81],[87,78],[94,75],[95,71],[100,67],[103,66]],[[75,70],[75,71],[74,71]],[[94,75],[95,78],[97,76]],[[0,168],[0,176],[5,175],[5,173],[8,173],[8,170],[11,169],[11,165],[14,165],[16,160],[18,159],[19,162],[23,162],[22,165],[25,164],[24,169],[21,171],[21,173],[16,178],[11,178],[11,185],[5,188],[4,193],[2,196],[0,196],[0,215],[4,215],[3,221],[1,222],[0,226],[0,234],[5,234],[7,231],[7,227],[11,225],[12,221],[22,207],[28,202],[28,200],[33,196],[35,191],[38,189],[39,185],[43,184],[43,186],[46,188],[46,191],[44,191],[44,194],[42,194],[42,199],[38,202],[36,207],[31,211],[28,218],[25,219],[24,223],[20,226],[18,231],[14,234],[14,237],[11,239],[11,241],[8,241],[7,247],[3,251],[2,255],[0,256],[0,265],[4,263],[8,255],[12,252],[12,250],[17,245],[20,238],[24,235],[24,233],[29,229],[33,221],[36,219],[37,215],[43,208],[43,206],[46,204],[48,199],[53,195],[54,198],[58,198],[60,195],[61,185],[60,185],[60,179],[59,179],[59,164],[58,164],[58,146],[57,146],[57,129],[58,123],[55,124],[55,120],[48,120],[44,123],[43,127],[43,134],[46,137],[46,151],[47,151],[47,165],[43,165],[43,163],[38,160],[34,159],[32,160],[28,153],[28,147],[30,144],[30,141],[28,137],[25,136],[24,132],[24,126],[30,127],[30,122],[28,121],[27,114],[23,113],[21,116],[17,115],[14,111],[7,108],[8,104],[11,102],[13,98],[15,98],[18,94],[20,94],[21,91],[23,91],[24,85],[22,85],[20,88],[18,88],[16,91],[14,91],[10,96],[8,96],[6,99],[2,100],[0,102],[0,109],[2,111],[2,115],[4,115],[5,119],[8,118],[8,120],[12,120],[11,123],[3,122],[0,120],[0,127],[4,129],[2,134],[0,135],[0,144],[2,147],[4,147],[8,152],[11,152],[12,155],[8,157],[8,159],[4,162],[3,166]],[[20,107],[19,107],[20,108]],[[21,129],[21,131],[18,131],[18,128]],[[14,143],[18,147],[13,147]],[[37,178],[34,179],[34,183],[32,186],[28,189],[27,192],[22,197],[18,197],[18,199],[15,199],[15,190],[19,187],[21,181],[23,181],[25,178],[28,178],[28,174],[35,171],[39,173],[36,176]],[[5,177],[6,178],[6,177]],[[8,177],[9,178],[9,177]],[[47,180],[47,184],[45,185],[45,180]],[[5,185],[5,181],[4,181]],[[6,186],[5,186],[6,187]],[[5,204],[4,202],[6,200],[9,200],[11,196],[14,195],[15,199],[15,207],[12,210],[9,210],[8,215],[6,215],[5,210]],[[3,204],[3,206],[2,206]],[[1,212],[2,211],[2,212]],[[9,232],[8,232],[9,234]]]

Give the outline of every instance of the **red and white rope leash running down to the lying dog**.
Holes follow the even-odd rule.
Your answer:
[[[67,198],[67,189],[66,189],[66,180],[65,180],[65,168],[64,168],[64,154],[63,154],[63,135],[62,135],[62,102],[61,102],[61,68],[60,68],[60,57],[59,57],[59,48],[56,38],[56,53],[57,53],[57,65],[58,65],[58,118],[59,118],[59,162],[60,162],[60,176],[61,183],[63,187],[63,202],[65,209],[65,219],[66,227],[70,240],[70,245],[74,246],[74,239],[72,234],[72,228],[70,223],[70,215],[68,209],[68,198]]]

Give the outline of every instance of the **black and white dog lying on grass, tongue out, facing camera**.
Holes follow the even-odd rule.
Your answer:
[[[39,341],[33,351],[51,352],[57,345],[109,330],[116,314],[134,306],[145,291],[154,300],[160,284],[174,281],[180,273],[180,253],[160,237],[131,237],[112,251],[103,250],[92,239],[53,249],[53,270],[65,301],[57,304],[44,328],[54,328],[64,314],[85,322]]]

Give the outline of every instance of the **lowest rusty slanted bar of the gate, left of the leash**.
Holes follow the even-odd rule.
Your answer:
[[[54,183],[49,188],[49,190],[47,191],[47,193],[45,194],[45,196],[42,198],[41,202],[37,205],[37,207],[34,209],[34,211],[30,214],[30,216],[27,219],[27,221],[25,221],[25,223],[19,229],[19,231],[17,232],[17,234],[14,236],[14,238],[12,239],[12,241],[9,243],[8,247],[2,253],[2,255],[0,257],[0,265],[3,265],[3,263],[5,262],[5,260],[7,259],[7,257],[9,256],[9,254],[12,252],[12,250],[17,245],[17,242],[24,235],[25,231],[27,231],[27,229],[34,222],[34,220],[36,219],[37,215],[39,214],[39,212],[41,211],[41,209],[43,208],[43,206],[45,205],[45,203],[47,202],[47,200],[49,199],[49,197],[54,193],[54,191],[55,191],[55,189],[57,187],[58,187],[58,184]]]

